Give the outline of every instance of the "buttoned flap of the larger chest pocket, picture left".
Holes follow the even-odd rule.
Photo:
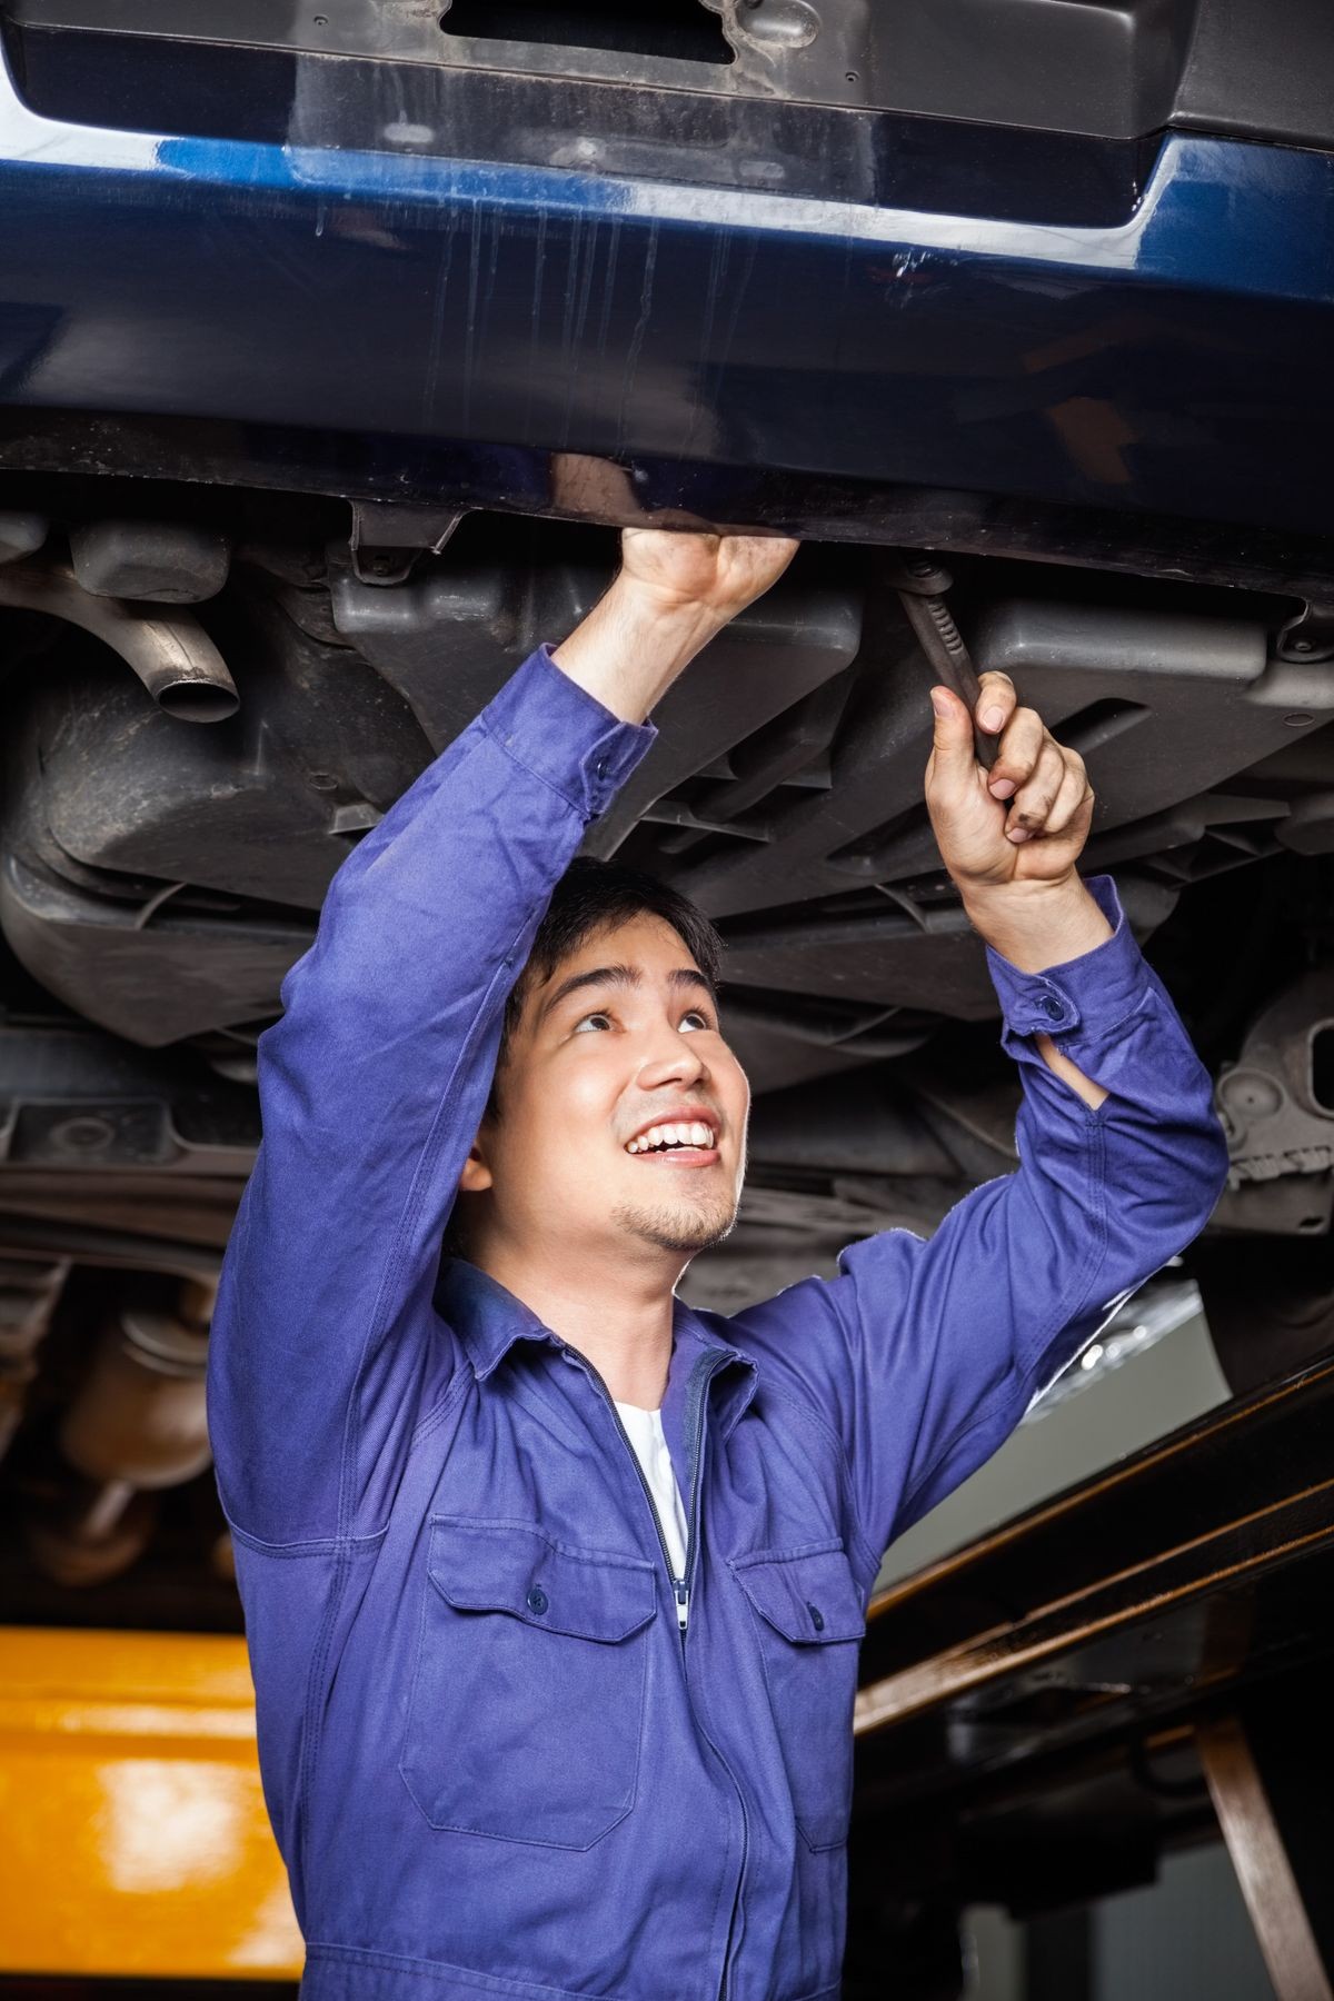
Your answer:
[[[436,1517],[428,1569],[460,1613],[512,1613],[574,1639],[628,1639],[658,1609],[650,1563],[570,1549],[524,1523]]]

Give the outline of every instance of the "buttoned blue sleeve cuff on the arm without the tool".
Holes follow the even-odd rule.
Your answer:
[[[562,674],[548,644],[528,654],[478,720],[586,820],[598,818],[658,736],[652,722],[622,722]]]

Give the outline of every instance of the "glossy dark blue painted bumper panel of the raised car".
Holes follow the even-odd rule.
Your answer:
[[[976,206],[74,126],[4,72],[0,402],[334,432],[386,492],[454,440],[712,518],[762,466],[1326,528],[1332,158],[1168,132],[1124,222]]]

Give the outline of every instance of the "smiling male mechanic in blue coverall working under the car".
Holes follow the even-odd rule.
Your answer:
[[[936,688],[926,800],[1018,1171],[734,1319],[676,1297],[744,1173],[718,938],[570,862],[792,550],[628,530],[344,862],[260,1041],[210,1415],[310,2001],[836,1995],[880,1557],[1222,1187],[1208,1077],[1076,874],[1084,766],[988,674],[996,764]]]

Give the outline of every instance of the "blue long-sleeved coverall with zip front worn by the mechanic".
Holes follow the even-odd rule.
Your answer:
[[[308,2001],[834,1995],[882,1551],[1224,1179],[1208,1077],[1094,880],[1098,950],[1042,974],[992,954],[1020,1169],[832,1281],[734,1319],[676,1303],[672,1579],[578,1347],[440,1271],[506,994],[654,734],[538,650],[340,868],[260,1041],[210,1419]]]

